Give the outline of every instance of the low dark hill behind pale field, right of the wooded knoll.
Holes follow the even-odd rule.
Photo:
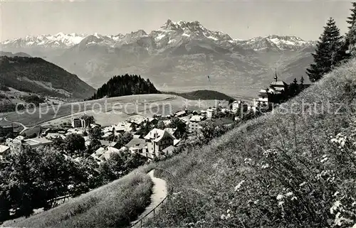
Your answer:
[[[214,90],[197,90],[193,92],[164,92],[164,94],[174,94],[185,99],[219,99],[229,101],[234,99],[226,94]]]

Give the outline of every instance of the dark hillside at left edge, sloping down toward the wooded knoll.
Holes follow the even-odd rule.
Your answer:
[[[53,97],[87,98],[95,89],[61,67],[41,58],[0,57],[1,85]]]

